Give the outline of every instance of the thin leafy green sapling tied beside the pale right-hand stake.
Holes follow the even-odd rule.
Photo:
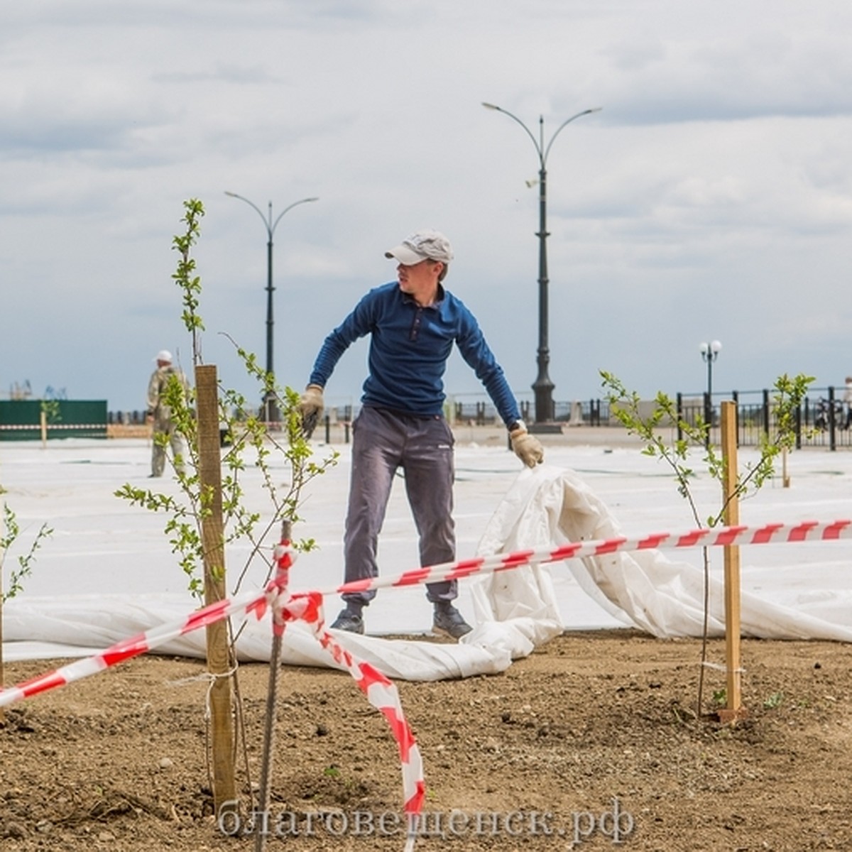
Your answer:
[[[755,494],[774,475],[774,464],[779,455],[790,452],[796,446],[797,412],[808,393],[809,385],[814,381],[813,377],[801,373],[793,378],[785,373],[776,379],[773,397],[774,433],[761,435],[757,461],[746,464],[746,469],[742,473],[738,472],[733,492],[726,493],[724,488],[725,459],[708,440],[711,423],[705,423],[704,418],[700,415],[694,423],[688,422],[677,411],[675,401],[662,392],[659,392],[654,398],[650,413],[643,414],[641,400],[635,391],[626,389],[625,385],[613,373],[602,370],[600,374],[613,416],[631,435],[637,435],[642,439],[645,445],[642,452],[645,455],[661,458],[671,467],[675,476],[677,491],[687,501],[690,514],[698,527],[705,524],[707,527],[716,527],[722,521],[731,500]],[[676,429],[677,434],[682,435],[682,437],[666,440],[661,434],[661,427],[663,426]],[[695,475],[691,456],[697,446],[703,448],[701,460],[705,463],[711,477],[718,481],[722,491],[719,507],[710,515],[705,515],[703,521],[691,488]],[[701,699],[704,688],[710,590],[710,551],[705,547],[702,549],[702,553],[704,563],[704,625],[697,717],[701,715]]]

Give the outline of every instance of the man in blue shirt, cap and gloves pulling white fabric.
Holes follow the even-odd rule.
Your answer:
[[[397,280],[368,292],[325,338],[300,406],[309,431],[322,413],[323,389],[337,361],[369,334],[370,374],[353,424],[343,537],[347,583],[377,576],[378,533],[399,468],[417,526],[420,564],[455,561],[453,436],[443,414],[443,377],[453,344],[497,407],[518,458],[529,467],[544,459],[474,315],[441,283],[452,261],[449,240],[438,231],[418,231],[385,256],[397,261]],[[375,595],[375,590],[344,594],[346,606],[331,627],[363,633],[363,609]],[[469,632],[452,605],[458,596],[455,580],[427,584],[426,596],[435,608],[435,633],[458,639]]]

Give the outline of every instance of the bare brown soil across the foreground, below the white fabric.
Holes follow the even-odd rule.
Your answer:
[[[399,683],[428,786],[417,849],[852,849],[852,649],[744,642],[735,725],[713,714],[712,668],[695,712],[700,653],[630,630],[567,633],[499,676]],[[5,680],[55,665],[7,664]],[[256,849],[213,815],[203,672],[147,656],[7,709],[3,852]],[[267,685],[267,665],[239,668],[244,812]],[[394,740],[348,675],[283,670],[275,737],[266,848],[403,848]]]

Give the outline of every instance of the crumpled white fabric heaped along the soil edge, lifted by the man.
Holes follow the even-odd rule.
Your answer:
[[[567,541],[613,538],[619,528],[602,501],[570,470],[544,465],[518,476],[489,521],[479,552],[490,555]],[[385,570],[388,570],[385,567]],[[560,565],[520,567],[470,579],[475,627],[458,644],[387,640],[338,634],[340,642],[386,675],[431,681],[493,674],[563,630],[553,571],[569,570],[580,588],[625,625],[654,636],[699,636],[704,580],[697,565],[671,561],[659,550],[617,552]],[[385,590],[392,595],[393,590]],[[722,635],[720,584],[711,587],[711,635]],[[154,626],[180,623],[186,600],[163,596],[75,596],[13,600],[3,609],[6,659],[87,656]],[[837,596],[807,596],[796,607],[742,596],[746,636],[852,641],[852,607]],[[270,619],[233,624],[240,660],[269,659]],[[203,657],[204,630],[182,636],[158,653]],[[283,661],[334,666],[305,625],[288,625]]]

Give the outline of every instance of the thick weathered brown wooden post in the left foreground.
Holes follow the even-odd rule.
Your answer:
[[[196,406],[199,423],[199,479],[209,492],[210,512],[201,520],[204,544],[204,603],[222,601],[225,590],[225,541],[222,523],[222,457],[219,445],[219,399],[216,366],[195,368]],[[207,670],[215,680],[210,688],[210,730],[213,753],[213,802],[216,817],[222,807],[237,809],[233,763],[233,711],[231,702],[231,654],[227,621],[207,628]]]

